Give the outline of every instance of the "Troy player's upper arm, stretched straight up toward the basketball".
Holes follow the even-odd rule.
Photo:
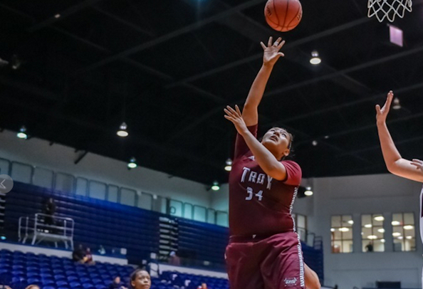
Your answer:
[[[273,65],[283,56],[283,53],[279,51],[283,44],[285,44],[285,41],[281,42],[281,40],[282,38],[279,37],[273,43],[273,39],[270,37],[268,38],[267,46],[263,42],[260,43],[264,51],[263,65],[251,85],[249,95],[244,104],[244,110],[242,110],[242,117],[247,126],[256,125],[258,122],[258,105],[261,102],[261,98],[263,98],[268,78],[273,70]]]

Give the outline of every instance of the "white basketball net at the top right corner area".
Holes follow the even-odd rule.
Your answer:
[[[406,10],[412,11],[412,0],[368,0],[367,8],[369,9],[367,14],[369,18],[376,16],[379,22],[385,18],[393,22],[395,16],[402,18]]]

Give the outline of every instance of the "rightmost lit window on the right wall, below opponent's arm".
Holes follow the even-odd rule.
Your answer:
[[[392,214],[394,251],[416,251],[416,230],[413,213]]]

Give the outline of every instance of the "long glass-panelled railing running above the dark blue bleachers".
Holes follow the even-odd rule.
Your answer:
[[[219,226],[228,226],[228,213],[174,199],[164,198],[145,191],[137,191],[115,184],[106,184],[92,179],[75,177],[72,174],[31,166],[22,162],[11,162],[0,158],[1,174],[9,174],[15,182],[41,186],[66,194],[89,196],[127,206],[158,211],[185,219],[203,221]]]

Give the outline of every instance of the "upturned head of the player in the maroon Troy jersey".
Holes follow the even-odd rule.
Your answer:
[[[283,157],[289,154],[291,136],[283,128],[273,127],[263,135],[261,143],[271,152]]]

